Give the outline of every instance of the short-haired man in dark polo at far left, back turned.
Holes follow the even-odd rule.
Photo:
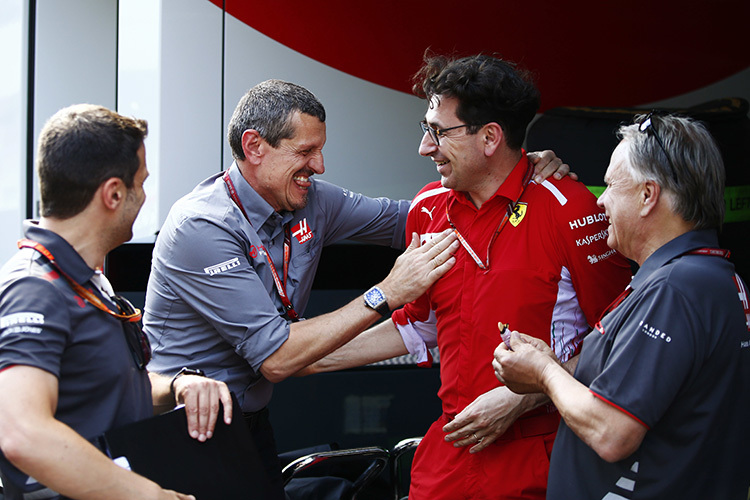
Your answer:
[[[41,132],[42,217],[25,224],[21,250],[0,271],[6,499],[31,490],[35,499],[193,498],[118,467],[88,440],[175,402],[201,441],[220,402],[231,419],[223,383],[145,370],[140,311],[101,272],[107,252],[132,237],[145,200],[146,133],[145,121],[91,105],[59,111]]]

